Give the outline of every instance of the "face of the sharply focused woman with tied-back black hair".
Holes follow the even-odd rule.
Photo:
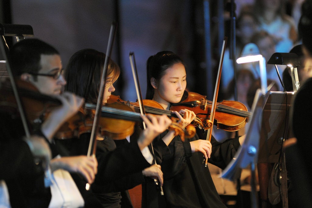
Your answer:
[[[181,63],[176,63],[165,71],[165,75],[157,84],[154,78],[151,84],[155,89],[153,100],[167,109],[169,103],[178,103],[186,88],[186,71]]]

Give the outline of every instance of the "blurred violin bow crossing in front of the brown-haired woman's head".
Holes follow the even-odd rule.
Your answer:
[[[109,62],[109,57],[110,57],[111,52],[112,52],[112,46],[113,46],[113,42],[114,42],[115,33],[116,33],[116,23],[114,21],[110,27],[110,36],[108,39],[106,56],[105,56],[103,71],[102,71],[102,75],[101,75],[99,96],[98,96],[97,103],[96,103],[94,120],[93,120],[93,125],[92,125],[92,130],[91,130],[91,137],[90,137],[87,156],[95,157],[96,136],[97,136],[97,133],[99,132],[99,120],[100,120],[99,118],[101,116],[101,109],[102,109],[102,105],[103,105],[103,96],[104,96],[104,89],[105,89],[105,83],[106,83],[105,80],[107,77],[108,62]],[[86,189],[88,190],[89,188],[87,188],[87,186],[86,186]]]

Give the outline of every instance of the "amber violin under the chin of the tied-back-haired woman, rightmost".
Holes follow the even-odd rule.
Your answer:
[[[184,91],[183,101],[171,104],[170,110],[179,111],[180,109],[189,109],[193,111],[200,119],[201,126],[205,130],[210,128],[208,122],[211,113],[212,102],[206,99],[206,96]],[[238,101],[227,101],[217,103],[214,116],[214,124],[217,128],[225,131],[237,131],[245,126],[252,113],[247,111],[247,107]]]

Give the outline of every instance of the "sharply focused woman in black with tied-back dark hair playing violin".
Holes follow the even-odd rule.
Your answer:
[[[164,109],[178,103],[186,88],[186,71],[183,61],[171,51],[161,51],[147,60],[146,99],[153,99]],[[181,110],[179,116],[183,126],[194,119],[195,114]],[[225,207],[213,185],[209,169],[202,164],[203,156],[218,167],[225,168],[232,160],[239,139],[228,139],[218,143],[199,139],[197,135],[182,142],[179,136],[166,130],[154,141],[154,149],[164,177],[166,207]],[[145,196],[150,198],[152,196]],[[146,202],[144,206],[154,205]]]

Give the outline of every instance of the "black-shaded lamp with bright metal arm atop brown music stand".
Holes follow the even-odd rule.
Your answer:
[[[290,67],[291,80],[294,92],[299,89],[299,79],[297,66],[300,65],[299,57],[295,53],[274,53],[268,61],[268,64],[274,64],[277,70],[277,65],[287,65]]]

